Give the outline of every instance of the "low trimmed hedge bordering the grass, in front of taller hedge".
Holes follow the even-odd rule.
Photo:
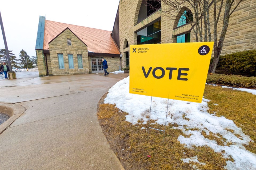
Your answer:
[[[243,77],[241,75],[208,74],[206,83],[238,88],[256,89],[256,77]]]

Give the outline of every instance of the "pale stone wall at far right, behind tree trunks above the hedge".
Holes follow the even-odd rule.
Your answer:
[[[217,3],[217,6],[220,2]],[[225,4],[224,4],[225,5]],[[236,6],[234,3],[233,9]],[[224,10],[224,9],[223,9]],[[213,5],[210,8],[211,35],[213,41]],[[255,49],[256,43],[256,1],[242,1],[229,19],[222,54]],[[221,34],[223,15],[220,16],[217,26],[217,36]],[[194,32],[191,31],[191,42],[196,42]]]

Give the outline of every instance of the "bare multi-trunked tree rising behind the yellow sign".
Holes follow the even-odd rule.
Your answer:
[[[176,19],[177,13],[179,15],[185,15],[186,18],[189,18],[184,13],[183,7],[186,6],[187,8],[194,10],[194,20],[189,20],[190,25],[193,29],[193,32],[195,34],[195,38],[197,42],[211,41],[211,25],[210,25],[210,19],[209,19],[209,9],[210,4],[209,0],[153,0],[157,2],[161,2],[162,6],[165,5],[165,9],[161,9],[162,12],[168,14],[166,16],[174,16],[173,18]],[[236,6],[231,10],[232,5],[235,0],[226,0],[225,1],[225,11],[224,11],[224,18],[223,18],[223,25],[221,30],[221,35],[219,36],[219,40],[217,37],[217,25],[219,21],[220,15],[222,12],[222,7],[224,0],[220,0],[220,6],[217,10],[217,0],[213,1],[213,40],[214,40],[214,55],[213,55],[213,63],[209,67],[209,71],[212,73],[215,73],[217,64],[219,62],[219,57],[221,55],[223,42],[226,36],[227,28],[229,25],[229,18],[230,15],[235,11],[235,9],[238,7],[238,5],[241,3],[242,0],[239,0],[236,4]],[[203,18],[203,19],[202,19]],[[202,33],[202,29],[204,27],[204,37]],[[208,34],[207,34],[208,31]],[[198,37],[199,36],[199,37]]]

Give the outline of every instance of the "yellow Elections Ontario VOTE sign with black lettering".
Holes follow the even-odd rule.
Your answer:
[[[213,42],[130,46],[133,94],[201,103]]]

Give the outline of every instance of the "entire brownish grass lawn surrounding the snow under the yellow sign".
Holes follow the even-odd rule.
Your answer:
[[[206,85],[204,98],[208,102],[209,113],[224,116],[234,121],[242,128],[243,133],[249,135],[256,142],[256,95],[236,91],[220,86]],[[233,161],[229,157],[224,159],[221,153],[214,152],[209,147],[194,147],[189,149],[177,140],[180,135],[186,136],[181,130],[173,129],[176,126],[169,124],[166,127],[165,140],[161,131],[141,129],[147,125],[132,125],[125,121],[127,113],[120,111],[115,105],[104,104],[103,96],[98,105],[98,119],[109,144],[123,167],[130,169],[224,169],[226,161]],[[216,105],[218,104],[218,105]],[[157,129],[164,129],[163,125],[152,125]],[[193,130],[193,129],[190,129]],[[224,144],[224,138],[218,134],[206,134],[205,138],[215,140],[218,145]],[[216,137],[218,136],[218,137]],[[239,137],[239,136],[238,136]],[[221,140],[222,139],[222,140]],[[256,145],[244,145],[250,152],[256,153]],[[148,157],[150,155],[151,157]],[[181,159],[197,156],[200,163],[184,163]],[[195,167],[196,166],[196,167]]]

